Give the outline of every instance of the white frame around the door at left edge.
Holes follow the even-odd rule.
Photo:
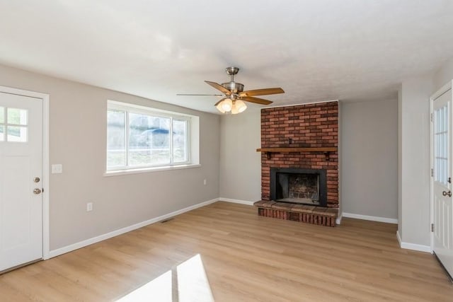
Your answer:
[[[49,160],[49,95],[35,91],[0,86],[0,93],[23,95],[42,100],[42,259],[50,258],[50,160]]]

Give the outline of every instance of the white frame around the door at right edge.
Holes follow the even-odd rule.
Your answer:
[[[450,89],[453,88],[453,80],[449,81],[446,83],[442,88],[440,88],[438,91],[433,93],[430,96],[430,228],[432,226],[432,223],[434,223],[434,176],[432,175],[431,171],[434,170],[434,137],[432,135],[432,131],[434,129],[434,123],[432,120],[433,116],[433,108],[434,108],[434,100],[436,98],[439,98],[440,95],[446,93]],[[453,102],[452,102],[452,107],[453,107]],[[450,112],[451,113],[451,112]],[[453,122],[453,116],[450,116],[450,120]],[[452,158],[452,163],[453,163],[453,158]],[[452,163],[449,163],[450,165]],[[431,254],[434,253],[434,233],[430,231],[430,250]]]

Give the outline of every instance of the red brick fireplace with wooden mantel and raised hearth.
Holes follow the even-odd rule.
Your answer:
[[[260,205],[267,204],[272,209],[272,205],[277,204],[283,210],[286,203],[288,213],[304,209],[306,213],[318,211],[336,215],[339,203],[338,101],[264,108],[261,110],[261,148],[257,151],[261,151],[262,199],[256,204],[258,214]],[[285,171],[290,171],[289,176],[276,175]],[[313,174],[324,175],[324,178],[320,181],[321,178]],[[289,182],[287,185],[285,179]],[[300,183],[291,192],[287,186],[294,182]],[[321,190],[315,192],[315,189]],[[277,196],[278,190],[280,196]],[[287,214],[286,219],[289,216],[292,215]]]

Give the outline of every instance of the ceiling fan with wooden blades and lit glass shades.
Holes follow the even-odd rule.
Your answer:
[[[230,113],[236,115],[243,112],[247,109],[247,105],[243,102],[256,103],[260,105],[269,105],[272,102],[270,100],[265,100],[263,98],[255,98],[256,95],[270,95],[277,93],[285,93],[282,88],[263,88],[255,89],[251,91],[243,91],[243,84],[237,83],[234,81],[234,75],[239,72],[238,67],[226,67],[226,74],[231,76],[231,81],[218,84],[211,81],[205,81],[208,85],[216,88],[218,91],[224,93],[224,95],[219,94],[185,94],[179,93],[177,95],[217,95],[224,96],[222,100],[219,100],[215,107],[222,113]]]

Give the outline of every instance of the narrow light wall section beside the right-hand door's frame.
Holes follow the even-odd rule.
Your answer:
[[[430,106],[432,76],[418,76],[401,86],[399,140],[401,163],[398,232],[403,243],[430,245]]]

